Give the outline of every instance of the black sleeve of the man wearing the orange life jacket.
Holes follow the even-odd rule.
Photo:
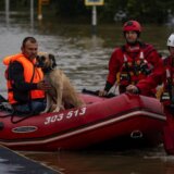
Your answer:
[[[27,91],[30,89],[37,89],[37,84],[26,83],[24,80],[24,69],[18,62],[13,62],[10,64],[9,77],[12,79],[12,86],[18,90]]]

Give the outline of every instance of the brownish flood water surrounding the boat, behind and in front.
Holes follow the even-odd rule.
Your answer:
[[[20,52],[26,36],[34,36],[39,42],[39,51],[55,54],[57,62],[71,78],[76,89],[98,90],[103,88],[108,61],[115,46],[123,45],[121,24],[98,25],[97,36],[90,33],[90,24],[58,22],[44,18],[34,23],[29,14],[0,14],[0,91],[5,97],[3,77],[5,55]],[[166,38],[172,26],[145,26],[142,39],[151,42],[163,54],[167,54]],[[114,90],[114,89],[113,89]],[[173,174],[174,157],[167,157],[162,145],[151,149],[127,151],[55,151],[22,152],[65,174]],[[0,160],[0,163],[3,160]],[[8,166],[3,166],[8,167]],[[5,171],[5,170],[4,170]]]

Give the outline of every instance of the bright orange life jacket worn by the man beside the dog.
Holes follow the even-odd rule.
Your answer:
[[[8,78],[9,66],[14,61],[17,61],[18,63],[21,63],[23,65],[24,80],[26,83],[38,83],[38,82],[42,80],[42,78],[44,78],[44,73],[42,73],[41,69],[34,66],[36,59],[34,59],[34,61],[30,62],[22,53],[4,58],[3,64],[5,64],[8,66],[7,71],[5,71],[7,86],[8,86],[8,99],[11,104],[18,102],[16,99],[14,99],[14,90],[12,87],[12,79]],[[41,99],[41,98],[45,98],[45,91],[38,90],[38,89],[33,89],[29,91],[28,97],[29,97],[28,100]]]

